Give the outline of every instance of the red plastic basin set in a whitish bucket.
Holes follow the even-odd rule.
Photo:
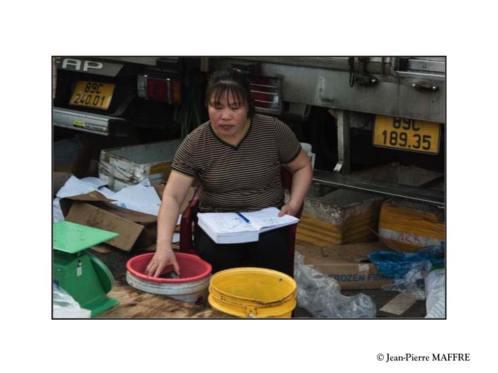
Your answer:
[[[127,270],[140,278],[141,280],[150,281],[151,283],[189,283],[190,281],[198,281],[209,276],[212,267],[208,262],[205,262],[199,256],[184,253],[175,253],[176,261],[180,266],[180,278],[158,278],[151,277],[145,274],[145,269],[151,261],[154,253],[142,254],[128,260]],[[160,274],[167,274],[174,271],[172,265],[168,265],[161,271]]]

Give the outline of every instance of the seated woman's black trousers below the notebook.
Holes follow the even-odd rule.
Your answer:
[[[261,267],[288,272],[288,227],[259,234],[259,241],[217,244],[203,229],[196,227],[197,254],[212,265],[212,273],[235,267]]]

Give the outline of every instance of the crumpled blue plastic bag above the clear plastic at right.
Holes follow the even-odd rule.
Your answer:
[[[372,251],[367,255],[377,267],[382,276],[404,278],[413,268],[430,262],[433,268],[443,267],[445,264],[444,246],[427,246],[412,253],[403,253],[394,250]]]

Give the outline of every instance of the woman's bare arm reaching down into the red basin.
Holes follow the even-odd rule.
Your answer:
[[[145,269],[147,276],[159,276],[167,265],[173,265],[176,273],[180,274],[180,267],[172,249],[172,238],[180,206],[193,181],[193,178],[175,171],[169,175],[159,207],[156,253]]]

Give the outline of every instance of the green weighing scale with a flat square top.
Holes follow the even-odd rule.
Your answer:
[[[114,277],[104,263],[85,251],[93,245],[119,236],[72,222],[53,224],[53,279],[80,306],[91,311],[91,317],[119,304],[107,293],[114,286]]]

